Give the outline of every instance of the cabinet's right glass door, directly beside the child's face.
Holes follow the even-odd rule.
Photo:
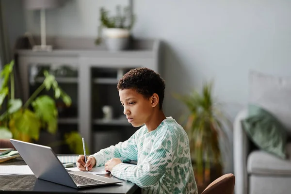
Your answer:
[[[126,119],[117,91],[130,68],[92,68],[93,151],[126,141],[138,129]]]

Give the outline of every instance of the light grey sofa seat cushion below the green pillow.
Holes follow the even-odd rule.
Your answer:
[[[283,160],[265,151],[253,151],[247,159],[248,174],[291,175],[291,161]]]

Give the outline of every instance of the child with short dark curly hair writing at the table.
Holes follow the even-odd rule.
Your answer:
[[[127,141],[77,160],[85,171],[105,165],[117,178],[129,180],[151,194],[197,194],[187,133],[162,111],[165,83],[159,74],[141,67],[118,82],[123,113],[138,129]],[[122,160],[122,161],[121,161]],[[137,165],[124,162],[137,161]]]

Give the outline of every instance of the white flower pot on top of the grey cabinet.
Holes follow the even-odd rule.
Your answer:
[[[129,46],[129,30],[106,28],[103,30],[105,43],[110,51],[125,50]]]

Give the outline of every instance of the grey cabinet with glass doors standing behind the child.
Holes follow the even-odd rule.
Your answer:
[[[136,67],[159,72],[160,53],[159,40],[134,40],[130,50],[120,52],[110,52],[93,43],[94,39],[48,38],[48,44],[55,48],[52,52],[32,51],[26,38],[20,38],[16,44],[22,98],[27,100],[41,84],[44,70],[55,75],[59,85],[72,98],[69,108],[56,101],[61,134],[55,138],[63,138],[65,131],[78,130],[91,153],[125,141],[137,130],[123,114],[117,82],[124,73]],[[50,91],[48,94],[52,95]],[[112,111],[110,119],[104,115],[104,107]],[[66,153],[65,150],[56,152]]]

